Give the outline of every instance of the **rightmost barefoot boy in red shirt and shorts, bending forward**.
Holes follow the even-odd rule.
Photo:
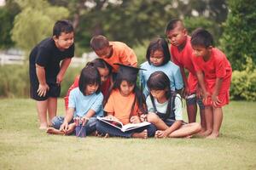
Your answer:
[[[201,28],[191,36],[196,76],[206,110],[207,139],[216,139],[223,120],[222,107],[230,101],[232,68],[225,54],[213,48],[212,35]]]

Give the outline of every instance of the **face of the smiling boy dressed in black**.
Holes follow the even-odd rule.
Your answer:
[[[73,44],[73,32],[65,33],[61,32],[61,35],[59,37],[53,37],[55,41],[55,45],[60,50],[65,50],[67,48],[70,48]]]

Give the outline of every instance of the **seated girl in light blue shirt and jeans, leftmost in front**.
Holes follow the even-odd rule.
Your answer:
[[[73,118],[76,117],[84,122],[86,134],[96,131],[96,116],[103,115],[100,85],[99,71],[93,65],[86,66],[80,74],[79,88],[74,88],[69,95],[66,116],[55,116],[52,120],[53,127],[49,127],[47,133],[73,133],[76,127]]]

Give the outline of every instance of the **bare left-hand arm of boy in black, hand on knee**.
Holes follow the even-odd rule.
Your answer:
[[[38,82],[39,82],[38,91],[37,91],[38,95],[45,96],[47,90],[49,90],[49,86],[45,80],[44,67],[36,64],[36,73],[37,73]]]

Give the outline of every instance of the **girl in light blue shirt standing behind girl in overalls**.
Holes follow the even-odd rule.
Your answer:
[[[180,69],[177,65],[170,61],[171,55],[168,48],[168,43],[163,38],[157,38],[149,43],[146,58],[148,61],[141,65],[140,82],[143,88],[143,94],[147,98],[149,91],[147,81],[150,75],[155,71],[163,71],[169,77],[172,91],[180,93],[183,89],[183,78]]]

